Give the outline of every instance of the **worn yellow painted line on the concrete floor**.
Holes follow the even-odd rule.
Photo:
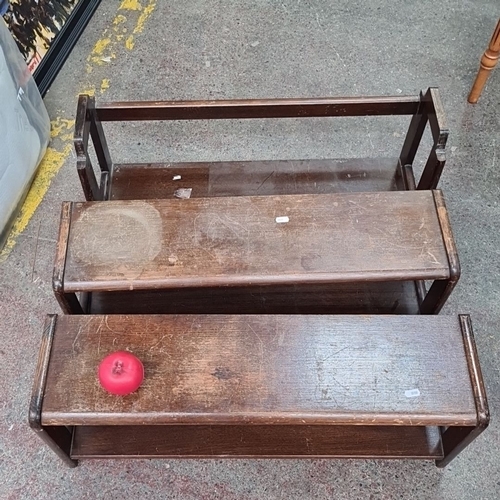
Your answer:
[[[128,29],[124,27],[128,20],[123,15],[124,12],[129,12],[128,15],[137,16],[135,23],[132,22],[133,28],[130,27],[132,33],[142,33],[145,23],[153,13],[156,7],[156,0],[148,0],[145,6],[139,0],[123,0],[120,4],[117,14],[112,21],[112,31],[105,29],[101,38],[97,40],[92,51],[87,58],[87,72],[91,73],[96,66],[111,62],[116,58],[116,50],[125,48],[132,50],[135,45],[134,37],[130,35],[125,42],[123,42],[123,33],[127,33]],[[137,12],[137,14],[135,14]],[[106,92],[111,85],[109,79],[104,78],[99,87],[101,94]],[[95,95],[96,85],[89,85],[83,88],[81,93]],[[76,106],[76,100],[75,100]],[[73,149],[73,127],[74,120],[64,118],[57,118],[51,122],[51,138],[53,142],[47,148],[44,158],[40,162],[37,173],[26,196],[21,210],[14,221],[14,225],[7,238],[7,242],[0,252],[0,262],[4,262],[9,256],[12,249],[15,247],[19,235],[26,229],[29,221],[33,217],[44,196],[46,195],[52,179],[62,168],[67,158]],[[57,145],[54,145],[57,144]]]

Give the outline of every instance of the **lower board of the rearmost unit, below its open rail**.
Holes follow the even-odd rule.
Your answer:
[[[397,158],[116,164],[110,178],[110,200],[403,189]]]

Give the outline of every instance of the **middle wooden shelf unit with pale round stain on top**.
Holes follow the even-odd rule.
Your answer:
[[[459,274],[437,190],[120,200],[64,205],[54,289],[69,314],[433,314]]]

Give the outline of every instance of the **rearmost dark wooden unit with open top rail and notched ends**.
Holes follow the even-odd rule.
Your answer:
[[[411,120],[397,158],[123,164],[112,161],[103,128],[105,122],[124,121],[404,115]],[[415,186],[412,164],[427,124],[433,144]],[[83,191],[91,201],[172,198],[178,189],[191,189],[195,198],[435,189],[446,161],[447,138],[438,89],[429,88],[417,96],[134,101],[99,105],[93,97],[81,95],[74,145]],[[92,165],[89,139],[97,166]],[[97,177],[94,167],[99,172]]]

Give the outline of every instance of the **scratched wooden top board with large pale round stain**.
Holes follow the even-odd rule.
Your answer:
[[[73,204],[64,289],[449,276],[431,191],[240,196]]]

